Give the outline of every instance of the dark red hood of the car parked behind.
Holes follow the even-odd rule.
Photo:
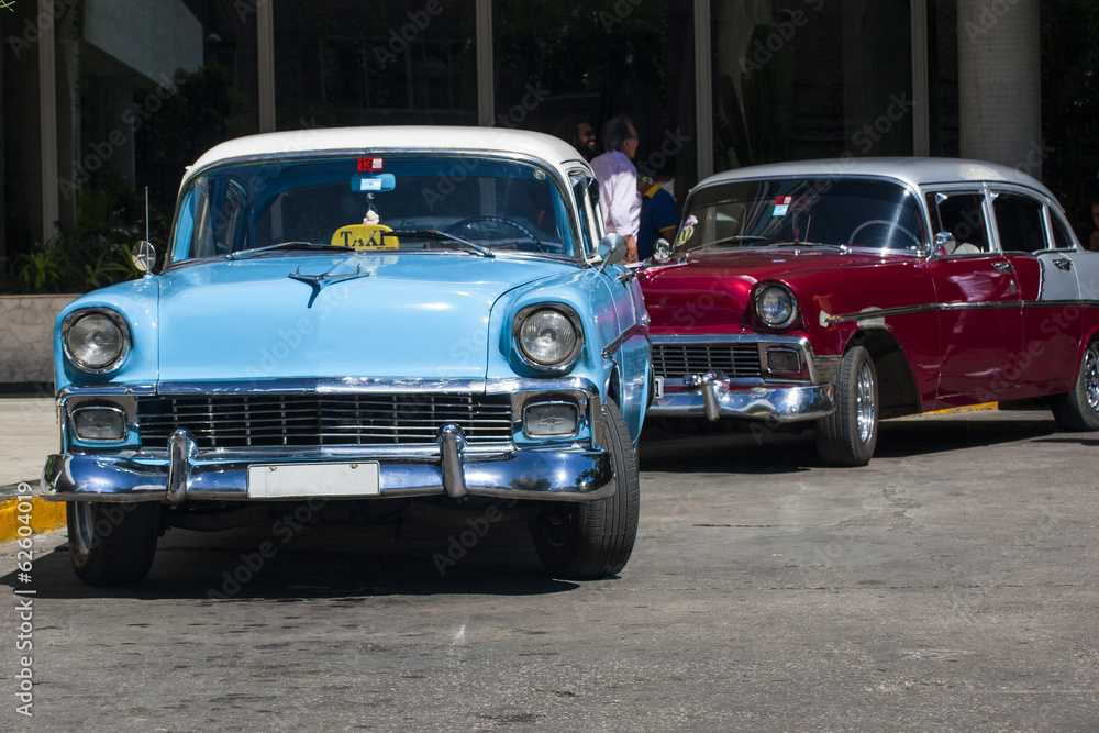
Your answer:
[[[756,282],[785,281],[786,276],[814,269],[834,271],[839,267],[880,265],[893,257],[901,255],[882,257],[880,251],[840,252],[832,247],[722,249],[650,267],[641,275],[641,287],[654,333],[696,329],[735,333],[744,327],[744,314]]]

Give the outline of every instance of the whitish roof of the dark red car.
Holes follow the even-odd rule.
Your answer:
[[[891,178],[913,188],[943,184],[1001,182],[1034,189],[1054,201],[1056,197],[1041,181],[1010,166],[962,158],[834,158],[824,160],[792,160],[761,166],[748,166],[710,176],[696,189],[717,184],[750,178],[779,177],[843,178],[845,176],[873,176]]]

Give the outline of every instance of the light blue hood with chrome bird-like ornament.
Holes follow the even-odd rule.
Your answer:
[[[497,299],[571,269],[449,253],[271,256],[174,268],[159,278],[159,378],[480,379]],[[476,358],[454,358],[470,351]]]

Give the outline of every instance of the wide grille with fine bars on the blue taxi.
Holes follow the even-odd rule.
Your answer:
[[[199,448],[434,445],[446,423],[470,444],[507,442],[508,395],[203,395],[141,398],[144,447],[182,427]]]

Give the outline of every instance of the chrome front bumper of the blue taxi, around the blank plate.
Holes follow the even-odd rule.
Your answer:
[[[595,501],[613,495],[613,470],[604,451],[463,451],[440,436],[434,456],[266,455],[209,458],[184,431],[173,436],[167,462],[106,455],[52,455],[42,474],[47,501],[248,501],[248,468],[303,460],[379,460],[380,493],[370,498],[448,495],[550,501]],[[323,497],[319,497],[323,498]]]

